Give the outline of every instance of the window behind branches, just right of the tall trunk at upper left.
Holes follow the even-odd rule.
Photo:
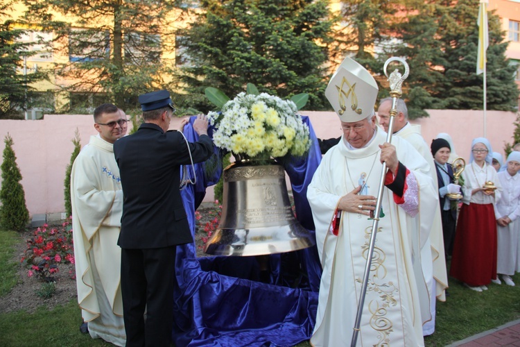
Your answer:
[[[161,37],[157,34],[125,33],[125,62],[140,65],[159,62],[162,55]]]

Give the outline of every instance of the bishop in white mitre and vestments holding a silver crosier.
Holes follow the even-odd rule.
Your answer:
[[[428,163],[404,139],[385,143],[374,115],[376,83],[354,60],[343,61],[326,95],[340,117],[343,137],[324,155],[307,190],[323,268],[311,345],[351,344],[370,214],[385,162],[389,171],[356,346],[424,346],[422,324],[431,316],[424,314],[430,303],[418,260],[428,235],[419,235],[414,218],[420,214],[426,222],[432,214],[422,212],[438,205]],[[358,185],[363,176],[366,187]],[[363,189],[368,195],[358,194]]]

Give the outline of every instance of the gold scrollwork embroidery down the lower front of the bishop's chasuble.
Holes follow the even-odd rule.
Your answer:
[[[378,232],[382,232],[382,228],[378,228]],[[365,229],[365,239],[367,235],[372,233],[372,227]],[[361,254],[364,259],[367,259],[368,249],[370,248],[370,240],[367,240],[361,248]],[[367,294],[372,292],[374,299],[368,303],[370,311],[370,327],[378,332],[378,343],[374,346],[388,346],[390,344],[390,332],[393,332],[393,323],[388,319],[388,307],[397,305],[394,293],[397,294],[397,289],[394,283],[390,280],[384,282],[384,278],[388,274],[386,266],[384,265],[386,255],[383,249],[374,246],[374,253],[372,253],[372,262],[370,266],[370,278],[367,283]],[[356,282],[361,282],[358,280]]]

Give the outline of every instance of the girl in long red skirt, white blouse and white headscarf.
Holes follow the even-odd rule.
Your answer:
[[[496,221],[494,203],[502,187],[491,166],[492,149],[484,137],[471,142],[469,165],[462,171],[462,208],[458,217],[450,275],[474,291],[483,291],[496,279]],[[487,182],[496,189],[486,189]]]

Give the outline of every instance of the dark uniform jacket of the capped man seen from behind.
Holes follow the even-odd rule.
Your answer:
[[[190,143],[193,162],[213,153],[213,142],[201,135]],[[123,217],[117,244],[121,248],[161,248],[193,242],[180,196],[180,165],[190,164],[184,137],[145,123],[136,133],[114,143],[123,186]]]

